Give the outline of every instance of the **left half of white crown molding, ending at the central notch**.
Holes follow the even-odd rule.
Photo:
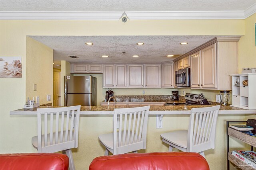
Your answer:
[[[2,11],[0,20],[120,20],[124,12]]]

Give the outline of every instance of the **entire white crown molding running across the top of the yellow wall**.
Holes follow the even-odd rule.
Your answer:
[[[2,11],[0,20],[218,20],[245,19],[256,13],[256,3],[244,11],[61,12]]]

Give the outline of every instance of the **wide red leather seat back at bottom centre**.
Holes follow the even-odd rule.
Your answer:
[[[153,152],[100,156],[92,160],[90,170],[209,170],[198,153]]]

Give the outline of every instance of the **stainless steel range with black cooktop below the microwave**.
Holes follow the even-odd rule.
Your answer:
[[[202,93],[200,94],[190,94],[186,93],[185,95],[185,102],[173,102],[173,103],[166,103],[165,106],[177,106],[177,105],[210,105],[208,100],[204,98]]]

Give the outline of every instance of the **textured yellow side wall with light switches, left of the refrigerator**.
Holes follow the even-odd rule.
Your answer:
[[[52,103],[53,84],[49,82],[53,80],[53,50],[30,37],[26,44],[26,98],[39,96],[40,104]],[[47,95],[51,95],[51,101],[47,101]]]

